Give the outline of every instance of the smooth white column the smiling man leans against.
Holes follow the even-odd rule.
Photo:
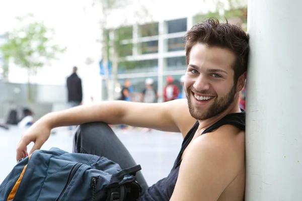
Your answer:
[[[302,200],[302,1],[249,0],[246,200]]]

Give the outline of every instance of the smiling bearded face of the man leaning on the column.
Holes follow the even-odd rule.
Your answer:
[[[228,49],[195,44],[185,75],[189,111],[197,120],[212,118],[234,102],[235,54]]]

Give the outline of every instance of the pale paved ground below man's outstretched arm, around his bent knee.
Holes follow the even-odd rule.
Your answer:
[[[173,162],[180,150],[182,136],[180,133],[152,131],[142,133],[138,129],[126,131],[115,130],[118,137],[128,148],[135,161],[141,165],[142,173],[149,185],[152,185],[170,172]],[[16,146],[23,130],[12,127],[9,131],[0,128],[0,183],[16,164]],[[28,146],[28,149],[32,144]],[[58,147],[71,152],[72,136],[66,128],[60,128],[56,135],[51,135],[42,149]]]

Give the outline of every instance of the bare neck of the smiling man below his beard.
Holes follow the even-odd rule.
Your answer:
[[[217,121],[225,117],[226,115],[232,114],[232,113],[241,113],[240,107],[239,107],[239,98],[235,101],[228,109],[226,109],[224,112],[220,113],[219,115],[212,117],[210,119],[206,120],[198,120],[199,126],[197,129],[197,132],[202,132],[211,125],[215,124]]]

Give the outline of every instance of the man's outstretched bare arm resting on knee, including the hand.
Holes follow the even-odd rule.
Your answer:
[[[79,106],[65,111],[49,113],[38,120],[22,136],[17,147],[17,160],[26,157],[27,145],[35,142],[31,153],[40,149],[55,127],[81,125],[89,122],[124,124],[153,128],[162,131],[187,133],[194,124],[188,112],[187,102],[175,100],[169,103],[145,104],[121,100]]]

